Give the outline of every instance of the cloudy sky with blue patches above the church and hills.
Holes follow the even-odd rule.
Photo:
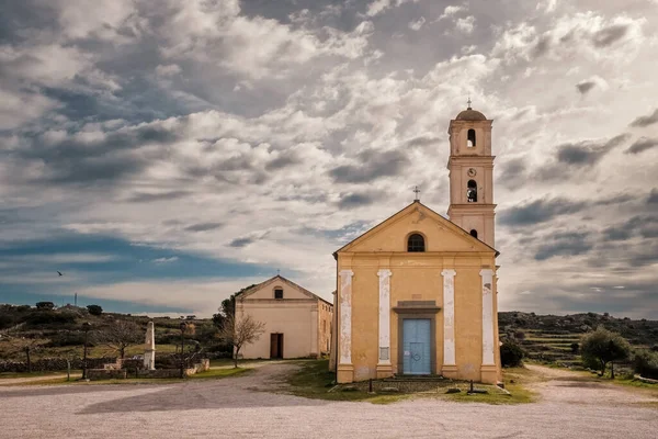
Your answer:
[[[658,0],[0,2],[0,302],[209,315],[494,122],[503,311],[658,318]],[[59,277],[56,270],[64,272]]]

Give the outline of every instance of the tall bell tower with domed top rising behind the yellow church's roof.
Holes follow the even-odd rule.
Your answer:
[[[450,121],[450,221],[495,247],[491,124],[468,108]]]

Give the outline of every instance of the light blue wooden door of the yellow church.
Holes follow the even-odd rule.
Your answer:
[[[429,318],[405,318],[402,326],[402,373],[429,375],[431,368],[431,335]]]

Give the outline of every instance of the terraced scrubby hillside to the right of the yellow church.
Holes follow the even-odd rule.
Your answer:
[[[658,345],[657,320],[615,318],[608,313],[583,313],[566,316],[536,315],[535,313],[504,312],[498,314],[501,341],[514,339],[531,359],[561,364],[580,362],[579,346],[583,334],[603,325],[621,334],[637,348]]]

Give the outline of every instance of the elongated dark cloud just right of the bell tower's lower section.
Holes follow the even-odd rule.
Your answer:
[[[566,199],[536,200],[521,206],[514,206],[502,211],[500,223],[506,226],[527,226],[545,223],[559,215],[568,215],[582,211],[587,206],[585,202],[576,202]]]

